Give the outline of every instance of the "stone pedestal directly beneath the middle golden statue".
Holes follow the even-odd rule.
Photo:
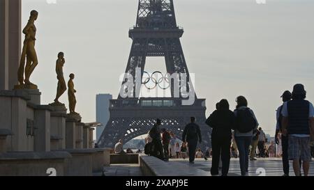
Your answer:
[[[63,150],[66,148],[66,106],[64,104],[50,104],[52,106],[50,118],[50,141],[52,150]]]

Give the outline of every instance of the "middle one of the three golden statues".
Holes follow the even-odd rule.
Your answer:
[[[63,95],[63,93],[66,92],[66,81],[64,80],[64,76],[63,76],[64,63],[66,63],[66,61],[64,60],[64,54],[63,52],[59,52],[58,59],[56,62],[58,87],[57,87],[56,99],[54,99],[54,104],[61,104],[59,102],[59,97],[61,97],[61,95]]]

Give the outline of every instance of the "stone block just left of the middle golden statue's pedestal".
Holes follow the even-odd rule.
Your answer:
[[[35,142],[34,151],[50,151],[50,112],[51,106],[36,106],[34,113]]]

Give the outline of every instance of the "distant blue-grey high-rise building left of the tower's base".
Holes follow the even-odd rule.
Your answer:
[[[96,127],[96,139],[100,138],[103,133],[103,129],[107,125],[110,118],[109,106],[110,100],[112,100],[112,95],[110,94],[98,94],[96,95],[96,121],[101,122],[103,126]]]

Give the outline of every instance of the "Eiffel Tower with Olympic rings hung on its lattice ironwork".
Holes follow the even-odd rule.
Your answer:
[[[194,93],[193,104],[183,104],[184,93],[176,95],[175,81],[179,83],[180,92],[189,92],[193,88],[190,74],[184,58],[180,38],[184,30],[177,26],[173,0],[139,0],[136,25],[130,29],[129,37],[133,40],[126,67],[126,74],[136,78],[140,70],[142,79],[147,56],[165,57],[168,74],[186,74],[184,77],[170,79],[171,97],[139,97],[135,81],[132,89],[126,89],[128,79],[122,82],[120,92],[128,93],[128,97],[110,100],[110,120],[98,140],[100,147],[113,148],[122,139],[124,143],[147,134],[156,122],[162,120],[161,128],[168,129],[181,139],[184,127],[194,116],[202,131],[203,143],[198,145],[204,150],[211,146],[211,129],[204,123],[205,100],[198,99]],[[157,84],[157,79],[154,82]],[[168,80],[169,81],[169,80]],[[147,81],[146,81],[147,82]],[[145,84],[145,81],[144,81]]]

